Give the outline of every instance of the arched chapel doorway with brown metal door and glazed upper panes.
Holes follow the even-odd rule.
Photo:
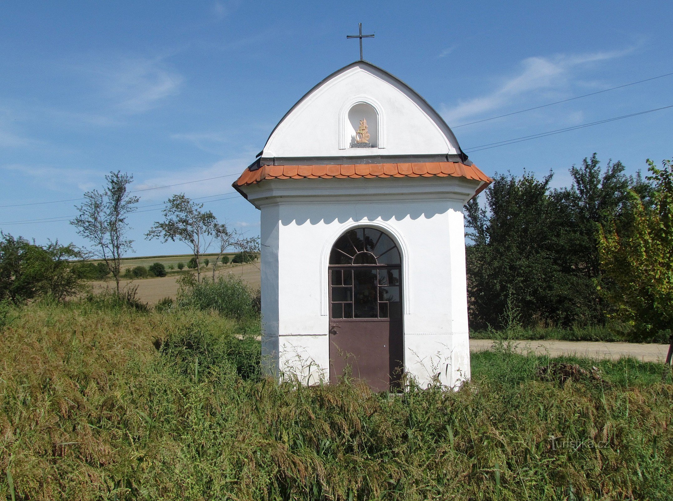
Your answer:
[[[376,228],[345,232],[330,253],[330,382],[349,365],[376,391],[396,387],[404,368],[402,262]]]

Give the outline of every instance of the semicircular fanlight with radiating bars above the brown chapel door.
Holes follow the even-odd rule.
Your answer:
[[[399,265],[400,252],[384,232],[374,228],[357,228],[336,240],[330,265]]]

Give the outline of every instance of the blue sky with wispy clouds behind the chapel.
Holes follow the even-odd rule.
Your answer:
[[[359,58],[400,77],[464,149],[673,104],[673,75],[465,127],[464,123],[673,72],[673,3],[642,2],[3,2],[0,205],[59,201],[120,169],[147,189],[240,173],[306,91]],[[485,172],[555,172],[597,152],[629,172],[673,157],[673,108],[470,154]],[[184,191],[258,234],[234,176]],[[131,216],[137,255],[183,253],[143,238],[159,211]],[[143,210],[143,209],[140,209]],[[0,228],[38,243],[83,242],[73,202],[1,207]]]

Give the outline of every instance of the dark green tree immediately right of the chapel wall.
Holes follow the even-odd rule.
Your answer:
[[[470,320],[476,327],[501,327],[507,305],[526,323],[568,324],[582,316],[583,292],[563,254],[566,221],[549,191],[552,174],[538,180],[495,176],[486,207],[466,205],[466,248]]]

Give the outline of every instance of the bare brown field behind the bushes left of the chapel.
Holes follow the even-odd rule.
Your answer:
[[[259,263],[250,263],[247,265],[228,265],[219,269],[215,273],[215,277],[224,275],[226,273],[233,273],[237,277],[242,277],[252,288],[259,288],[260,285],[260,271]],[[212,271],[203,271],[201,276],[212,277]],[[177,277],[162,277],[162,278],[143,278],[137,280],[122,280],[121,286],[128,287],[138,286],[138,297],[142,302],[149,304],[157,304],[163,298],[175,299],[178,292]],[[103,290],[105,288],[114,288],[114,281],[94,281],[91,282],[94,292]]]

